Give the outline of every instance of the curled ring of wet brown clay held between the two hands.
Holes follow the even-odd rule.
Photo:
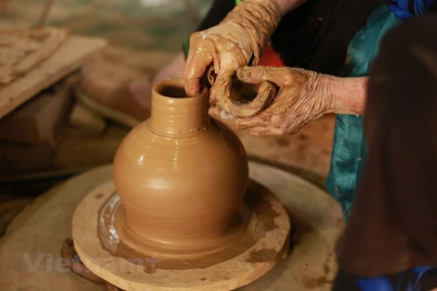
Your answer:
[[[270,82],[253,85],[239,81],[236,71],[223,73],[218,79],[212,66],[208,68],[207,80],[215,85],[214,96],[219,107],[240,118],[258,114],[277,94],[276,86]]]

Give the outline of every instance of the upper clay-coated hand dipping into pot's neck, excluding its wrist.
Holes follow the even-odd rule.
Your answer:
[[[214,65],[217,79],[228,71],[249,65],[253,54],[249,37],[239,25],[225,22],[189,37],[189,53],[183,79],[188,95],[200,94],[200,78]]]

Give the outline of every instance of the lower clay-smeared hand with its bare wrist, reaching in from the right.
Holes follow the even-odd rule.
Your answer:
[[[245,118],[229,115],[219,103],[209,114],[253,135],[293,134],[321,115],[362,115],[368,77],[340,78],[290,67],[245,66],[237,73],[246,84],[270,82],[279,88],[271,103],[259,114]]]

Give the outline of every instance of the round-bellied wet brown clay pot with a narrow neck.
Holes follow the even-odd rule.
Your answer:
[[[153,88],[151,117],[127,135],[114,160],[122,240],[127,234],[131,245],[196,256],[219,244],[239,216],[246,152],[207,111],[206,88],[193,97],[180,79]]]

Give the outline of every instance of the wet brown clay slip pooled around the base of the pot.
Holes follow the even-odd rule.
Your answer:
[[[261,236],[279,227],[274,219],[280,216],[280,212],[269,200],[268,189],[252,181],[244,200],[234,225],[223,234],[221,245],[201,250],[202,255],[196,258],[185,258],[186,254],[178,252],[178,249],[165,249],[162,252],[159,246],[150,246],[147,241],[127,235],[124,223],[126,213],[116,193],[107,199],[99,211],[97,233],[102,246],[112,256],[123,257],[134,264],[137,260],[149,274],[158,268],[205,268],[239,256],[254,246]],[[248,262],[266,262],[276,255],[274,249],[261,249],[251,252]]]

